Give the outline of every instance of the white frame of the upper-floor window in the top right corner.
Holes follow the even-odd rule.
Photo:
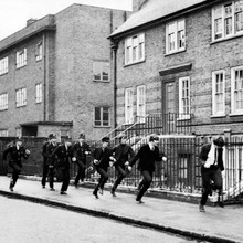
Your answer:
[[[229,8],[229,6],[232,7],[231,14],[226,15],[225,9]],[[243,0],[230,1],[228,3],[218,4],[212,8],[212,41],[223,40],[243,34],[243,23],[241,25],[241,30],[236,30],[236,14],[239,13],[243,14]],[[226,33],[228,20],[231,20],[231,33]],[[215,21],[219,22],[218,28],[215,28]]]

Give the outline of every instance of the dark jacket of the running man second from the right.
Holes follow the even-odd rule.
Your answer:
[[[163,154],[161,156],[159,155],[159,148],[157,146],[155,146],[154,150],[150,150],[150,147],[147,144],[141,146],[137,155],[130,161],[130,166],[134,166],[135,162],[139,159],[138,169],[140,171],[148,170],[154,172],[155,161],[161,161],[163,156]]]

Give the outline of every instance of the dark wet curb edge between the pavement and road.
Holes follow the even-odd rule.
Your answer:
[[[6,196],[8,198],[14,198],[14,199],[25,200],[30,202],[40,203],[40,204],[52,205],[52,207],[56,207],[60,209],[66,209],[73,212],[86,213],[88,215],[110,219],[110,220],[115,220],[115,221],[127,223],[127,224],[148,228],[148,229],[162,231],[167,233],[173,233],[173,234],[181,235],[184,237],[190,237],[193,240],[209,241],[209,242],[214,242],[214,243],[235,243],[235,241],[232,241],[229,239],[211,236],[211,235],[194,233],[190,231],[182,231],[176,228],[165,226],[165,225],[160,225],[156,223],[149,223],[149,222],[140,221],[140,220],[135,220],[131,218],[120,216],[115,213],[107,213],[104,211],[97,211],[97,210],[86,209],[82,207],[71,205],[71,204],[66,204],[66,203],[62,203],[57,201],[47,200],[47,199],[40,199],[40,198],[31,197],[31,196],[18,194],[15,192],[8,192],[8,191],[0,190],[0,194]]]

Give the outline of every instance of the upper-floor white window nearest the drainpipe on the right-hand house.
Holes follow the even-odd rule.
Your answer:
[[[125,40],[125,65],[145,60],[145,33]]]

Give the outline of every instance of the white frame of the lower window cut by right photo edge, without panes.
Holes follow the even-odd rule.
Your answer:
[[[241,84],[241,88],[235,89],[235,72],[241,72],[242,74],[242,80],[240,82],[242,82]],[[237,95],[241,96],[242,95],[242,99],[243,99],[243,66],[237,66],[237,67],[233,67],[231,68],[231,114],[233,115],[243,115],[243,101],[242,101],[242,107],[237,108],[236,104],[235,104],[235,98],[236,95],[235,93],[239,93]],[[237,101],[239,102],[239,101]]]

